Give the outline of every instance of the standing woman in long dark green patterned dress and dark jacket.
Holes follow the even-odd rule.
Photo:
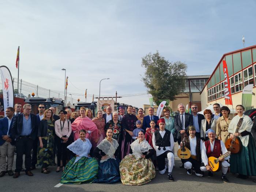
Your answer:
[[[42,166],[42,173],[50,173],[48,166],[54,163],[54,120],[52,110],[45,110],[44,117],[38,128],[39,147],[37,150],[37,165]]]

